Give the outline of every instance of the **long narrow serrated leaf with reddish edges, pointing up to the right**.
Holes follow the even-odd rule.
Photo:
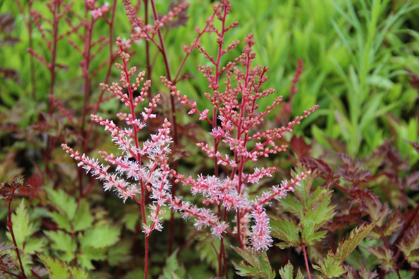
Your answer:
[[[367,234],[377,225],[377,221],[369,225],[361,225],[354,228],[350,233],[349,237],[345,239],[343,243],[339,243],[339,246],[334,254],[333,258],[336,261],[342,263],[344,259],[360,244],[361,240],[367,236]]]

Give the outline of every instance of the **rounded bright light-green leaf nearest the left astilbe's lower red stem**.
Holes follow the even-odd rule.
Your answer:
[[[96,224],[92,229],[85,231],[80,238],[81,247],[105,248],[119,241],[121,230],[119,227],[108,224]]]

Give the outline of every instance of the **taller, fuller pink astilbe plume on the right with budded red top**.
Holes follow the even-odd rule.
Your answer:
[[[275,167],[254,168],[253,173],[246,173],[245,165],[249,161],[256,162],[260,157],[268,157],[269,154],[286,150],[287,146],[277,145],[275,140],[282,137],[286,132],[292,132],[292,127],[300,124],[300,121],[318,109],[313,106],[304,111],[302,116],[297,116],[294,121],[290,121],[286,127],[269,129],[264,132],[258,132],[257,127],[264,121],[264,116],[270,114],[282,101],[282,96],[274,98],[271,106],[267,106],[265,111],[259,112],[258,100],[269,95],[275,94],[272,88],[262,90],[261,87],[268,78],[267,67],[252,67],[253,59],[256,54],[252,52],[252,46],[255,44],[253,35],[249,34],[244,43],[243,54],[230,61],[222,67],[220,65],[221,57],[235,49],[238,41],[233,41],[227,48],[223,49],[225,32],[238,25],[237,22],[226,26],[226,16],[231,11],[231,5],[228,0],[220,1],[220,4],[214,7],[215,15],[221,21],[221,30],[217,29],[211,21],[208,23],[208,33],[217,35],[219,45],[217,57],[209,55],[199,42],[194,47],[203,53],[209,60],[211,66],[199,66],[199,70],[209,82],[211,93],[205,93],[204,96],[212,104],[212,119],[210,119],[209,109],[199,111],[196,102],[191,103],[186,95],[182,95],[176,89],[176,85],[162,77],[162,82],[171,90],[173,96],[177,96],[181,103],[188,106],[191,110],[189,114],[199,114],[199,119],[208,121],[212,125],[210,134],[214,138],[214,146],[208,143],[199,142],[197,146],[206,152],[215,162],[215,175],[213,176],[185,176],[176,171],[171,171],[171,175],[176,178],[176,182],[181,181],[184,185],[191,185],[192,194],[202,194],[203,204],[206,207],[198,207],[191,202],[182,201],[181,197],[171,199],[171,208],[179,211],[184,219],[193,217],[194,225],[197,228],[210,227],[211,232],[218,238],[227,233],[238,241],[241,248],[250,243],[256,250],[267,250],[272,246],[272,238],[269,234],[269,217],[264,207],[270,205],[273,199],[281,199],[287,195],[287,192],[294,191],[299,186],[299,181],[307,178],[310,171],[302,172],[291,179],[291,181],[282,181],[279,185],[267,189],[260,196],[251,199],[248,192],[249,186],[264,177],[270,177],[275,172]],[[241,64],[244,71],[237,67]],[[215,68],[215,69],[214,69]],[[224,82],[224,89],[220,86],[220,75],[225,75],[227,80]],[[218,122],[217,122],[218,121]],[[219,151],[224,143],[232,154],[222,155]],[[250,163],[250,162],[249,162]],[[222,166],[224,173],[219,172],[219,165]],[[212,209],[217,208],[217,212]],[[229,220],[229,212],[234,211],[234,218]],[[251,216],[255,225],[249,227]],[[230,222],[235,222],[232,228]],[[221,240],[219,261],[224,262],[225,274],[227,275],[227,265],[223,241]],[[221,263],[220,263],[221,266]],[[219,276],[222,275],[219,266]]]

